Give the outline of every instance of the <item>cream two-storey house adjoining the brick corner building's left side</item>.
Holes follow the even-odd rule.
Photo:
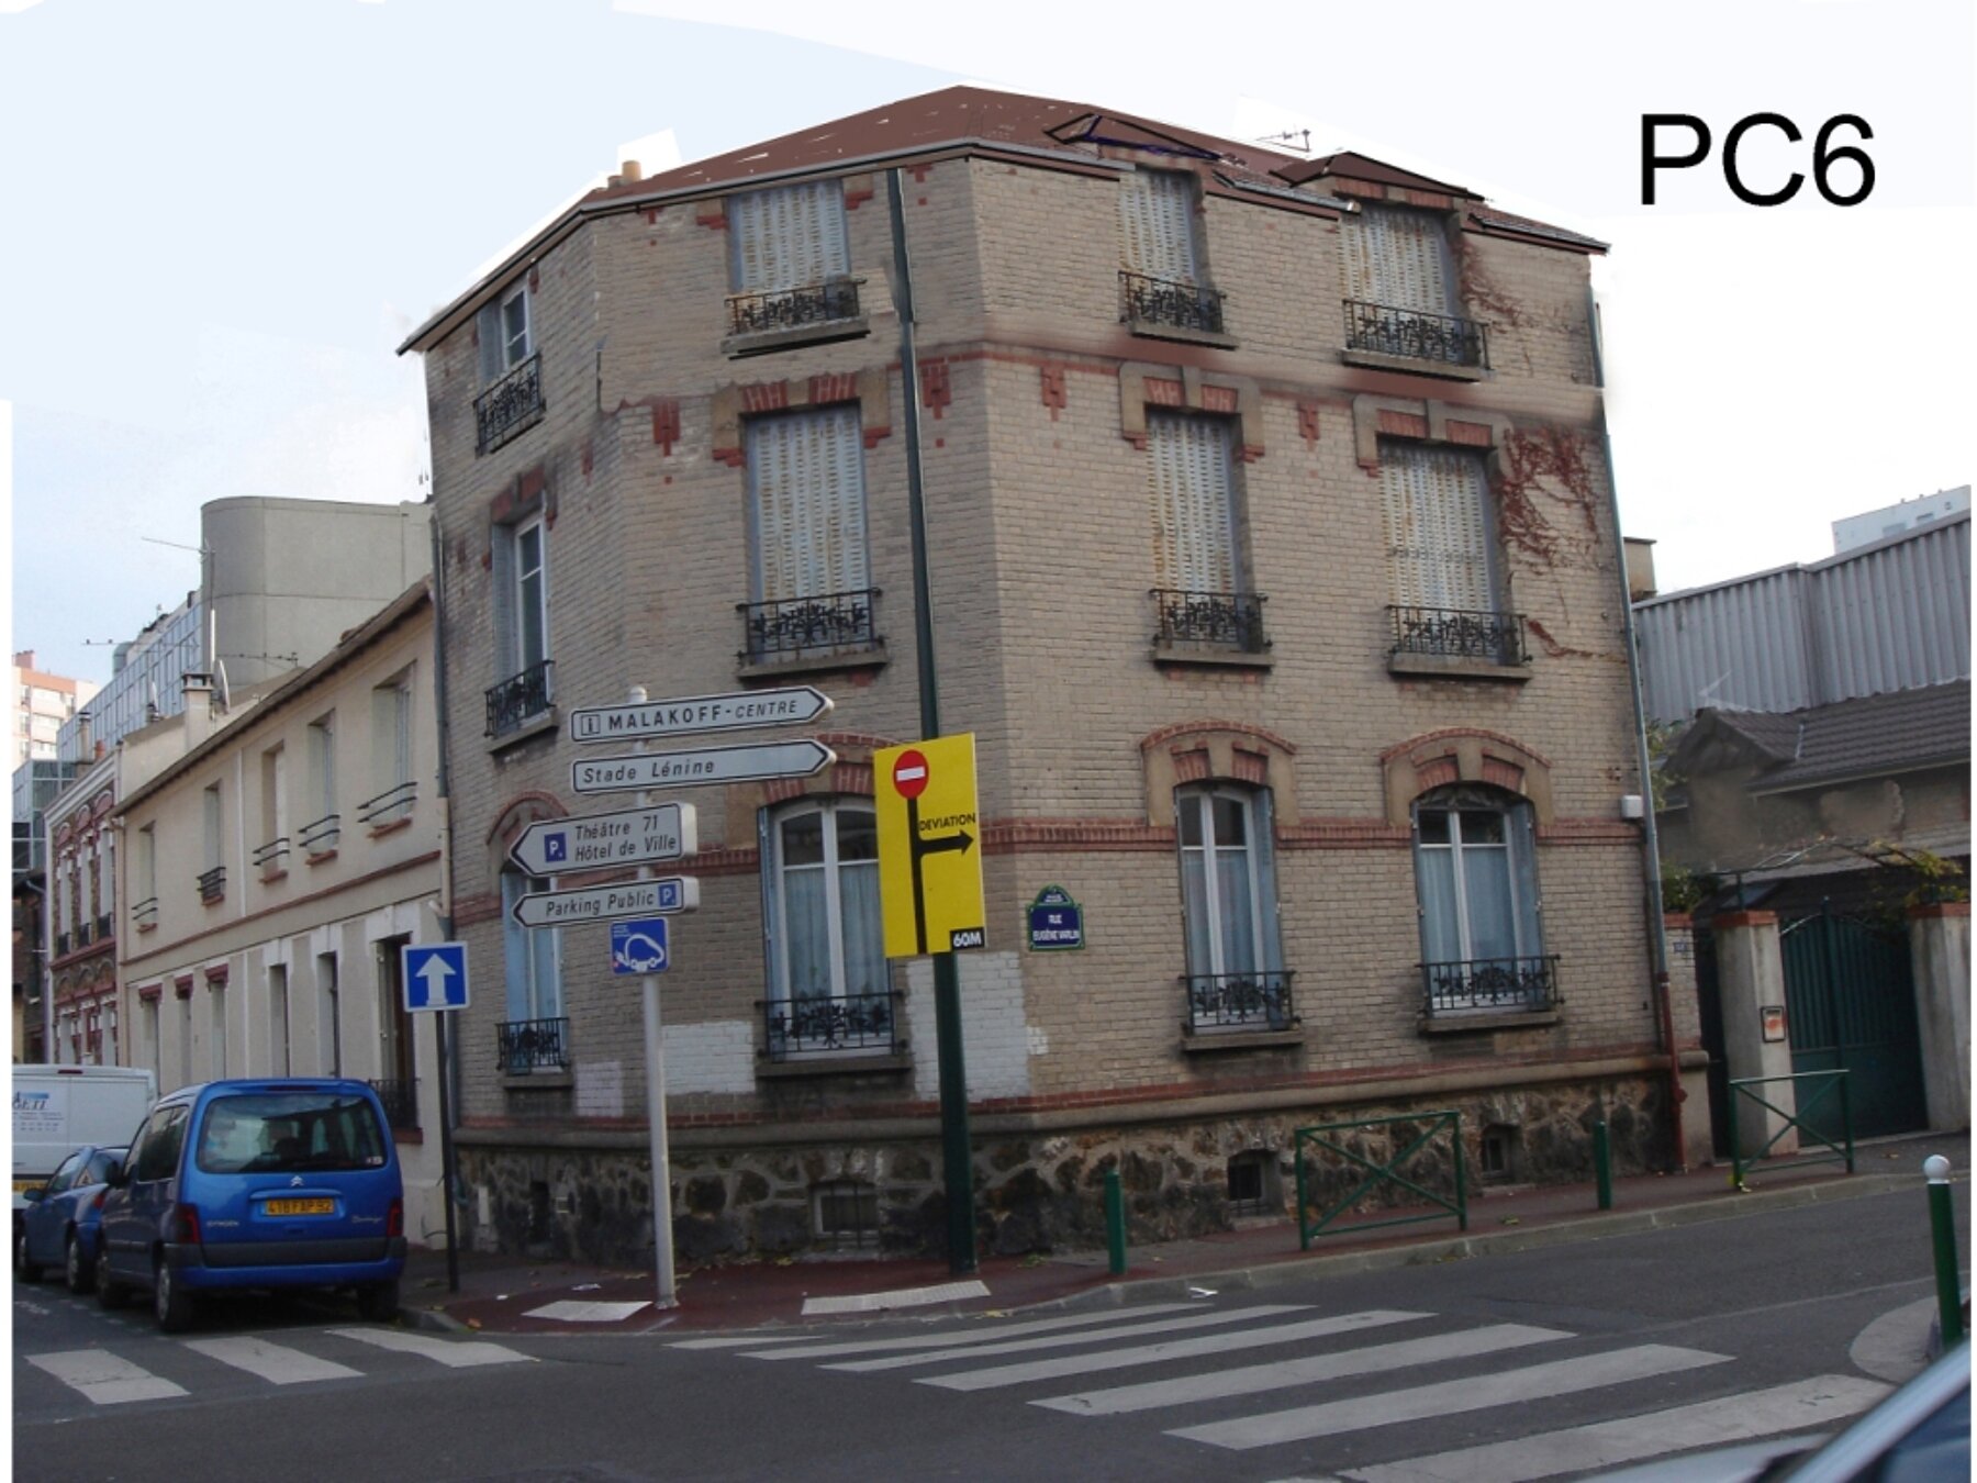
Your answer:
[[[399,947],[439,937],[433,599],[425,579],[287,678],[125,738],[115,803],[125,1062],[158,1090],[350,1076],[384,1095],[407,1234],[443,1228],[431,1016]],[[423,1022],[421,1022],[423,1020]],[[427,1143],[427,1131],[433,1137]]]

